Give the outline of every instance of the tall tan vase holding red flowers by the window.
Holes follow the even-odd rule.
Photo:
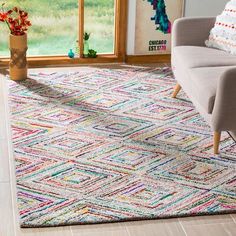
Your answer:
[[[23,80],[27,78],[27,30],[31,26],[28,20],[28,13],[14,7],[8,11],[4,10],[5,3],[2,4],[0,12],[0,22],[6,23],[9,28],[9,48],[11,58],[9,63],[10,78],[13,80]]]

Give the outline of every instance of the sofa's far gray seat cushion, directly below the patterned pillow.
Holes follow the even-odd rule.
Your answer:
[[[221,50],[198,46],[174,47],[172,62],[174,61],[178,61],[185,68],[236,65],[235,56]]]

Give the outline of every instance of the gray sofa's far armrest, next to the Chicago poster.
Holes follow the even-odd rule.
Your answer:
[[[215,17],[180,18],[174,22],[172,48],[175,46],[205,46]]]

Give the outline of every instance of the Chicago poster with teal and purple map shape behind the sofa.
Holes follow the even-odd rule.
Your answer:
[[[184,0],[137,0],[135,54],[170,54],[173,22],[183,16]]]

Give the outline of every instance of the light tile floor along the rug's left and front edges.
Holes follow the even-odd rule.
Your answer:
[[[20,229],[8,119],[7,88],[0,76],[0,236],[236,236],[236,214]]]

